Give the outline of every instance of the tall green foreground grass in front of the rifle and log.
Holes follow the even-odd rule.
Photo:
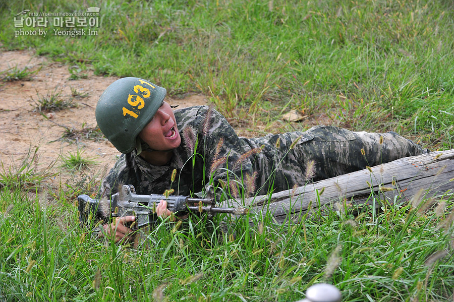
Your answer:
[[[290,226],[163,221],[133,248],[80,227],[71,193],[1,194],[7,301],[295,301],[318,282],[335,284],[343,301],[444,301],[454,286],[451,200],[443,211],[388,205]]]

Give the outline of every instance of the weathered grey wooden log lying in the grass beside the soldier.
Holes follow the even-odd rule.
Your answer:
[[[272,213],[278,223],[298,220],[314,207],[343,204],[373,204],[378,200],[391,204],[452,194],[454,189],[454,150],[405,157],[329,179],[296,190],[243,200],[228,200],[221,206],[249,206],[258,215]],[[322,193],[322,194],[320,194]]]

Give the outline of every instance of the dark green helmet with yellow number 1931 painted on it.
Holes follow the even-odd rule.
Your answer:
[[[96,105],[96,122],[118,151],[129,153],[136,138],[164,100],[166,90],[139,78],[122,78],[107,87]]]

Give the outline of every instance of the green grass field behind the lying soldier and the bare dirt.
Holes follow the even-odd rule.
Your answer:
[[[137,76],[169,95],[198,92],[228,116],[266,124],[280,109],[398,131],[452,148],[450,2],[106,1],[97,35],[15,37],[18,12],[82,12],[60,0],[4,4],[4,49],[32,47],[98,75]],[[44,43],[45,41],[45,43]],[[67,42],[69,41],[69,42]],[[80,72],[73,73],[80,77]],[[446,113],[447,112],[447,113]],[[253,124],[254,125],[254,124]],[[252,125],[252,127],[253,127]],[[303,126],[304,128],[304,126]],[[275,127],[273,127],[275,129]],[[281,125],[281,130],[292,129]]]

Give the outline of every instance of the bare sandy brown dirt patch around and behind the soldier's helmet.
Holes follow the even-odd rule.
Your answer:
[[[62,169],[61,156],[76,155],[78,150],[83,152],[82,157],[97,162],[90,168],[93,175],[106,164],[108,168],[113,166],[119,152],[99,132],[93,131],[96,127],[94,111],[101,93],[118,78],[95,76],[87,70],[80,73],[87,78],[70,80],[68,65],[25,50],[0,52],[0,74],[11,68],[27,68],[36,73],[30,80],[0,82],[0,161],[3,165],[0,173],[17,168],[36,147],[40,167],[55,162],[52,169],[59,173],[60,180],[74,173]],[[86,96],[75,97],[72,89]],[[60,94],[65,101],[72,100],[76,106],[41,114],[37,109],[38,100],[54,94]],[[175,103],[176,100],[170,101]],[[201,95],[178,100],[180,107],[207,102]],[[97,139],[88,139],[90,135]]]

